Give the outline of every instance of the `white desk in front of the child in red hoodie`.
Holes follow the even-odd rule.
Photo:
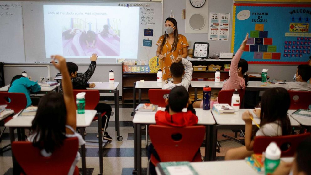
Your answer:
[[[164,110],[165,108],[161,108]],[[206,126],[206,139],[205,139],[205,160],[208,160],[210,157],[209,151],[211,142],[211,125],[215,125],[215,120],[211,114],[210,110],[203,110],[201,108],[195,108],[196,115],[198,116],[198,125]],[[141,174],[141,126],[146,124],[155,124],[155,112],[137,112],[134,115],[134,161],[135,169],[134,174]]]

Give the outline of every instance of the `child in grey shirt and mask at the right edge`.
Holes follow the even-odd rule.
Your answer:
[[[311,66],[301,64],[297,67],[295,74],[296,82],[288,82],[284,88],[288,91],[311,91],[311,84],[307,81],[311,78]]]

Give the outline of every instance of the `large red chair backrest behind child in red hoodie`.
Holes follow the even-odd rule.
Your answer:
[[[192,161],[203,142],[205,127],[150,125],[149,135],[161,162]]]

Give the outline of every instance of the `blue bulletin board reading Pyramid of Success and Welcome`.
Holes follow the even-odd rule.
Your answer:
[[[311,4],[234,3],[231,51],[246,33],[250,64],[306,64],[311,56]]]

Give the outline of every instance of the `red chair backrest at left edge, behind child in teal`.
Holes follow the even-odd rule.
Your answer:
[[[8,98],[10,100],[8,100]],[[8,105],[7,109],[12,109],[17,113],[26,108],[27,98],[24,93],[0,92],[0,105],[2,104]]]

